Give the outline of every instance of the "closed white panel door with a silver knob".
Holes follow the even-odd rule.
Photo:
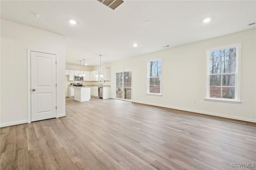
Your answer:
[[[31,121],[56,117],[56,55],[31,51]]]

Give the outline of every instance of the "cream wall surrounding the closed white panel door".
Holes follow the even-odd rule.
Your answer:
[[[65,37],[1,19],[1,127],[28,122],[27,48],[58,53],[57,115],[65,115]]]

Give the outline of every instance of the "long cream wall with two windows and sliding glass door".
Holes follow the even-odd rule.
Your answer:
[[[256,29],[140,55],[109,63],[111,97],[117,71],[132,69],[132,101],[150,105],[256,122]],[[241,101],[204,101],[206,49],[241,42]],[[147,61],[162,57],[162,96],[146,95]],[[196,99],[196,104],[193,100]]]

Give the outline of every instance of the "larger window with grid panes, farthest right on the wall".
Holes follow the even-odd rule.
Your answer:
[[[240,45],[229,45],[207,51],[207,99],[239,101]]]

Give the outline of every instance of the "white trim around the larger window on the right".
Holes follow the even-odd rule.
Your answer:
[[[224,98],[215,98],[210,97],[210,51],[218,50],[218,49],[226,49],[230,47],[236,47],[236,72],[234,73],[235,78],[235,99],[224,99]],[[225,73],[220,73],[223,75]],[[228,73],[229,74],[229,73]],[[241,42],[232,43],[227,45],[221,45],[213,48],[206,49],[206,97],[205,100],[209,101],[223,101],[227,103],[237,103],[240,101],[240,89],[241,88]]]

